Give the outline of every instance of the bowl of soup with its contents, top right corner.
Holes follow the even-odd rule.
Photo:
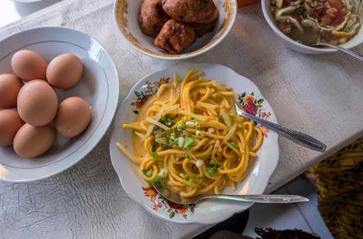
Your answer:
[[[363,43],[361,0],[262,0],[262,11],[274,33],[298,52],[336,51],[309,46],[314,43],[347,49]]]

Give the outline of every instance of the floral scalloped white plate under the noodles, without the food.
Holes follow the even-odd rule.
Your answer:
[[[149,74],[135,84],[135,87],[131,89],[130,94],[128,94],[118,109],[110,143],[111,160],[118,177],[120,177],[123,189],[125,189],[128,196],[141,204],[153,215],[175,223],[218,223],[233,216],[234,213],[248,209],[252,204],[238,204],[228,201],[204,201],[196,206],[176,206],[174,204],[168,204],[167,201],[157,195],[154,189],[147,187],[146,182],[138,176],[138,166],[130,162],[128,157],[123,155],[116,147],[116,142],[121,142],[130,150],[133,149],[131,131],[121,130],[120,125],[126,122],[129,123],[135,119],[133,113],[135,109],[130,105],[132,102],[135,102],[135,91],[145,91],[147,89],[145,87],[145,85],[147,86],[147,82],[159,82],[160,78],[167,79],[167,77],[172,76],[173,72],[177,72],[182,76],[190,68],[203,70],[206,79],[216,79],[219,83],[228,84],[238,94],[246,92],[247,95],[250,95],[254,92],[256,100],[263,99],[259,89],[253,82],[223,65],[184,63],[167,70]],[[262,117],[266,116],[265,114],[268,115],[268,113],[271,113],[269,120],[275,123],[277,122],[272,108],[267,101],[264,101],[262,107],[258,109]],[[258,155],[259,158],[257,160],[251,161],[246,179],[238,184],[238,190],[235,191],[236,194],[262,194],[264,192],[269,182],[269,177],[277,167],[279,160],[277,134],[268,133],[264,139],[262,148],[258,151]],[[225,193],[233,192],[226,190]]]

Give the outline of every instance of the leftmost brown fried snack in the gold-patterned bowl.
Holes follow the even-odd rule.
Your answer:
[[[145,35],[155,37],[169,19],[162,9],[162,0],[144,0],[140,6],[139,24]]]

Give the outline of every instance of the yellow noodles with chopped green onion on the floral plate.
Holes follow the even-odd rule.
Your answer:
[[[143,179],[162,177],[164,187],[182,197],[220,194],[226,187],[235,191],[264,140],[253,121],[236,115],[230,87],[203,79],[202,74],[191,69],[180,79],[174,73],[172,83],[162,84],[147,108],[140,109],[143,115],[123,125],[137,134],[134,142],[142,142],[133,147],[142,157],[117,144],[140,165]]]

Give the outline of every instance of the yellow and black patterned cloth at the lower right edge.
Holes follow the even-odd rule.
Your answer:
[[[334,238],[363,238],[363,140],[311,171],[318,183],[318,210]]]

